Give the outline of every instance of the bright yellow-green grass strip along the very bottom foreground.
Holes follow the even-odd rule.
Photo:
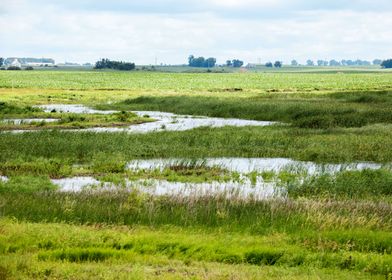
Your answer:
[[[136,279],[382,279],[392,261],[390,255],[363,254],[350,246],[326,253],[333,241],[310,245],[302,240],[301,245],[290,235],[277,233],[253,236],[171,226],[75,226],[7,219],[0,220],[0,227],[1,272],[11,279],[118,279],[120,275]]]

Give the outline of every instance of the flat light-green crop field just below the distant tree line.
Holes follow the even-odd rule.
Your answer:
[[[3,88],[107,90],[376,90],[391,86],[390,72],[375,73],[154,73],[2,71]]]

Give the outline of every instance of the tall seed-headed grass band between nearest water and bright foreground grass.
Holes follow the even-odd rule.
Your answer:
[[[268,233],[351,228],[390,230],[392,208],[385,202],[153,197],[135,192],[7,192],[4,216],[34,222],[225,228]]]

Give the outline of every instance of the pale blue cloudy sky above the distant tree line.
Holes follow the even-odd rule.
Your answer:
[[[138,64],[392,57],[391,0],[0,0],[0,56]]]

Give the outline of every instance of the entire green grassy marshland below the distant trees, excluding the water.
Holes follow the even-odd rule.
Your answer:
[[[283,70],[283,69],[282,69]],[[174,71],[174,70],[173,70]],[[84,104],[109,115],[44,113]],[[64,131],[152,122],[128,111],[275,121],[146,134]],[[392,72],[0,71],[0,279],[386,279],[392,273]],[[34,129],[30,133],[9,130]],[[372,162],[379,170],[238,174],[211,157]],[[135,159],[178,158],[131,171]],[[92,176],[115,191],[60,192]],[[241,177],[242,176],[242,177]],[[284,198],[153,196],[126,180],[277,182]]]

